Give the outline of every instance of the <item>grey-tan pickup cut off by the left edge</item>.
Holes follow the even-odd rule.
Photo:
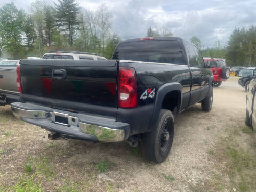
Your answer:
[[[19,100],[16,84],[16,68],[19,60],[0,60],[0,105],[7,105]]]

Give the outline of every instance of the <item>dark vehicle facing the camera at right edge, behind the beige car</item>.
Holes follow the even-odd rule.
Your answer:
[[[253,74],[251,74],[251,71],[253,71]],[[256,76],[256,68],[240,69],[238,76],[240,77],[238,79],[238,84],[244,87],[244,90],[247,91],[247,85]]]

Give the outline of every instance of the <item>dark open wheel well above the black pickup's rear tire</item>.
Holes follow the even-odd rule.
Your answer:
[[[162,109],[167,109],[172,111],[173,114],[178,114],[178,104],[180,103],[180,91],[175,90],[167,93],[162,102]]]

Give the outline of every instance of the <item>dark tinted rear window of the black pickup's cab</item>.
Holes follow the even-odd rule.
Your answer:
[[[113,59],[186,65],[178,40],[151,40],[120,43]]]

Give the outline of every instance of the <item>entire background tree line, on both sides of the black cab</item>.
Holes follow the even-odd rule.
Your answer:
[[[75,0],[58,0],[53,6],[36,0],[29,12],[17,9],[14,3],[6,3],[0,8],[0,57],[3,50],[12,59],[74,50],[98,53],[110,59],[121,41],[111,28],[111,16],[105,4],[90,10],[80,7]],[[165,27],[148,27],[146,31],[146,37],[171,36],[173,33]],[[217,40],[212,47],[205,48],[196,36],[190,41],[204,57],[225,58],[229,66],[256,66],[254,25],[235,28],[226,45]]]

